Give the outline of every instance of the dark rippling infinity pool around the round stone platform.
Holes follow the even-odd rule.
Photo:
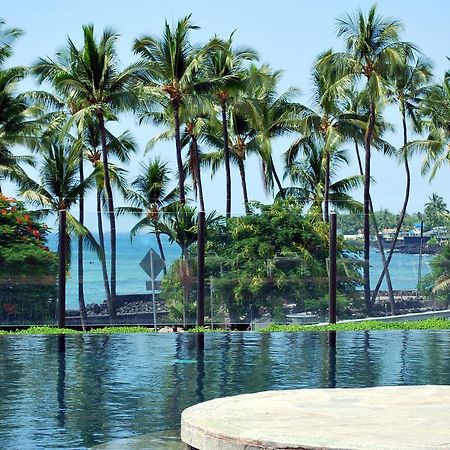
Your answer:
[[[182,448],[204,400],[409,384],[450,384],[450,332],[0,336],[0,448]]]

